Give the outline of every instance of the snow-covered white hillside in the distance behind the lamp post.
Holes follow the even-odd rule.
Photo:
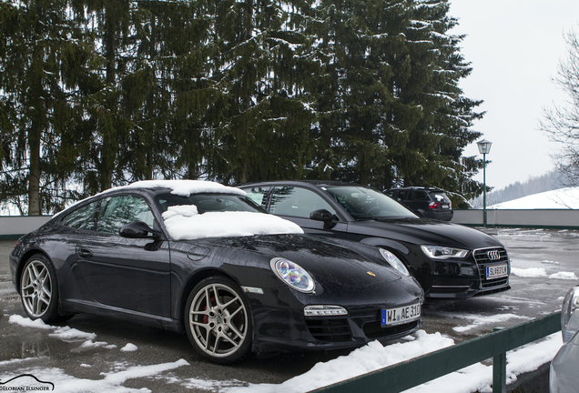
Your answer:
[[[500,190],[491,191],[486,195],[486,206],[490,207],[503,202],[531,196],[546,191],[564,188],[564,176],[553,170],[542,176],[531,176],[526,182],[516,182]],[[483,196],[469,201],[473,208],[483,208]],[[562,207],[564,208],[564,207]]]

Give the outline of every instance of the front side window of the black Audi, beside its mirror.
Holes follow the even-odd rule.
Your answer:
[[[269,213],[279,216],[310,218],[312,211],[320,209],[326,209],[331,214],[336,214],[328,202],[312,191],[294,186],[280,186],[273,190]]]

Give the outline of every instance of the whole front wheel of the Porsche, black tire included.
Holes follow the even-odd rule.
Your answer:
[[[193,348],[214,363],[242,358],[252,338],[249,305],[225,277],[203,279],[193,288],[185,307],[185,330]]]

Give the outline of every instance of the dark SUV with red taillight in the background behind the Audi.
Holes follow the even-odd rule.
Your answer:
[[[440,188],[419,186],[391,188],[384,191],[384,194],[408,207],[420,217],[442,221],[452,220],[454,213],[451,200]]]

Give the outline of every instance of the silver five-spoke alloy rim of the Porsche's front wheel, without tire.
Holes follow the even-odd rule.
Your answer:
[[[201,287],[188,311],[192,338],[210,358],[235,357],[248,336],[248,309],[237,292],[222,283]]]

